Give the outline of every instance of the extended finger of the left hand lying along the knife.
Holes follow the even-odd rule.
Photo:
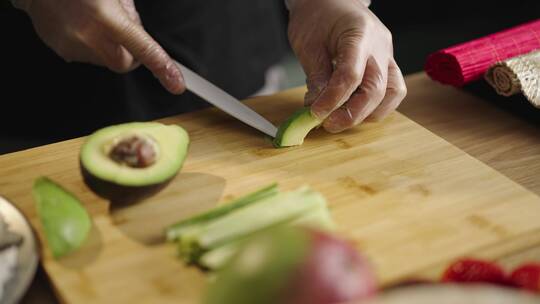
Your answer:
[[[119,8],[122,11],[123,8]],[[171,93],[180,94],[185,90],[184,78],[178,66],[167,52],[125,13],[106,12],[105,26],[112,39],[125,47],[133,57],[146,66],[161,84]]]

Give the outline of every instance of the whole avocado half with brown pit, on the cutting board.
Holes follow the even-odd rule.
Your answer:
[[[112,201],[132,202],[163,188],[180,171],[189,146],[177,125],[134,122],[91,134],[80,153],[86,184]]]

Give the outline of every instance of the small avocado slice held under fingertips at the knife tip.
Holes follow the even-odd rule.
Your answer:
[[[274,146],[276,148],[299,146],[309,131],[319,126],[321,121],[311,114],[310,108],[302,108],[279,126]]]

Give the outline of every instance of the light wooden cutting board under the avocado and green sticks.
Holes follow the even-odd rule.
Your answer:
[[[273,122],[302,104],[303,90],[250,101]],[[0,194],[31,220],[31,198],[46,175],[73,191],[93,215],[86,246],[42,261],[67,303],[197,303],[205,277],[163,242],[167,225],[272,182],[309,184],[330,203],[339,233],[372,262],[381,284],[437,278],[462,256],[499,258],[540,244],[540,198],[402,116],[274,149],[267,138],[216,109],[163,120],[186,128],[191,147],[172,183],[132,206],[114,206],[82,182],[74,139],[0,156]]]

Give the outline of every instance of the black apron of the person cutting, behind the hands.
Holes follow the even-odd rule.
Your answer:
[[[238,98],[260,89],[264,72],[287,49],[279,0],[139,0],[136,6],[171,57]],[[5,2],[0,7],[0,145],[13,137],[57,141],[208,106],[190,93],[169,94],[144,67],[119,75],[65,63],[23,12]]]

